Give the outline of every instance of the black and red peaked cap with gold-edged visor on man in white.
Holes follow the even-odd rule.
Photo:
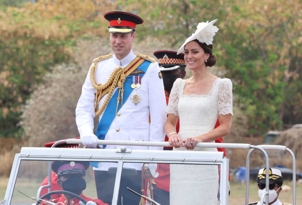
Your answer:
[[[110,11],[104,14],[104,18],[110,22],[108,26],[110,33],[131,33],[135,31],[137,24],[144,22],[139,16],[123,11]]]

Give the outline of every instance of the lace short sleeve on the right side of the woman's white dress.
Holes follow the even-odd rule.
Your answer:
[[[232,81],[228,78],[223,78],[220,81],[218,91],[218,113],[219,115],[233,115],[233,92]]]

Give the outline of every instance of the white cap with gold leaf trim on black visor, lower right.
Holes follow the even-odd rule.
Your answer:
[[[260,169],[256,181],[260,184],[265,184],[265,177],[266,168]],[[269,168],[269,184],[279,184],[282,186],[283,178],[280,170]]]

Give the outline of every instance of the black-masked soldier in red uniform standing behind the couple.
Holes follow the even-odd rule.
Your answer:
[[[170,92],[174,81],[177,78],[184,79],[186,75],[184,54],[176,54],[175,51],[159,50],[153,54],[159,60],[159,69],[162,73],[162,80],[164,82],[166,102],[168,105]],[[217,119],[216,127],[220,125],[219,119]],[[176,132],[179,131],[179,119],[176,124]],[[165,136],[165,142],[168,142],[169,138]],[[222,138],[215,140],[215,142],[223,143]],[[165,147],[164,150],[172,150],[173,147]],[[224,148],[217,148],[218,151],[223,151],[224,156],[226,152]],[[170,187],[170,165],[169,164],[157,164],[156,172],[159,176],[154,179],[156,187],[153,188],[154,200],[162,205],[170,204],[169,200],[169,187]],[[230,180],[230,178],[229,178]]]

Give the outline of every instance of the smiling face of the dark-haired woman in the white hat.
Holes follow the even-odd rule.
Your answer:
[[[190,41],[185,45],[185,62],[190,70],[206,67],[205,60],[209,56],[210,54],[205,53],[196,41]]]

